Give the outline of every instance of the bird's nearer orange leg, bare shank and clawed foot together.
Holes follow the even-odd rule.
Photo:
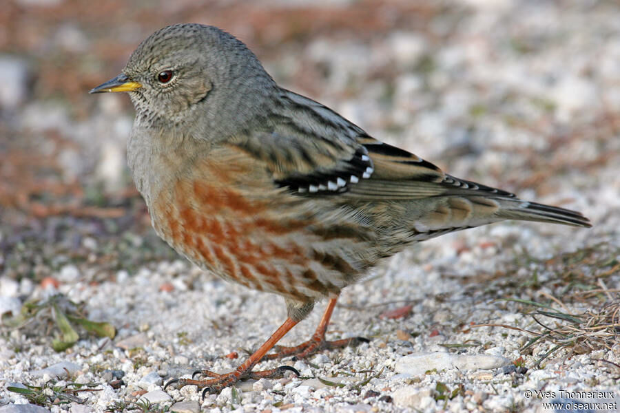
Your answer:
[[[280,326],[280,328],[278,328],[278,330],[276,330],[276,332],[274,332],[273,335],[271,335],[271,337],[269,337],[269,339],[265,341],[265,343],[262,346],[260,346],[260,348],[258,348],[256,352],[254,352],[254,354],[251,354],[251,356],[248,357],[248,359],[244,361],[241,364],[241,366],[239,366],[233,372],[229,372],[225,374],[217,374],[214,372],[210,372],[209,370],[198,370],[197,372],[194,372],[194,374],[192,374],[192,379],[172,379],[168,381],[164,386],[164,390],[169,385],[175,384],[175,383],[177,385],[180,385],[181,387],[183,387],[184,385],[197,385],[198,388],[204,389],[203,396],[205,396],[207,392],[210,394],[216,394],[220,392],[220,390],[222,390],[223,388],[227,388],[230,385],[234,385],[234,383],[236,383],[237,381],[241,379],[257,379],[257,380],[262,379],[262,378],[274,379],[277,377],[282,377],[284,372],[287,370],[299,376],[299,372],[296,369],[289,367],[289,366],[280,366],[278,368],[274,368],[271,370],[265,370],[261,372],[252,371],[252,368],[254,368],[254,365],[256,365],[256,363],[261,361],[263,357],[265,357],[265,354],[267,354],[267,352],[271,350],[271,348],[273,348],[273,346],[275,346],[276,343],[282,337],[284,337],[285,334],[287,334],[287,332],[291,330],[291,328],[293,328],[296,324],[298,324],[298,322],[299,321],[293,320],[291,318],[287,318],[287,321],[285,321],[284,324],[282,324],[282,326]],[[203,374],[204,376],[211,377],[211,379],[194,380],[193,377],[196,374]]]

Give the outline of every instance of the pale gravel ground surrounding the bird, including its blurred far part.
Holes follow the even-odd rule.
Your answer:
[[[130,411],[145,399],[152,412],[619,410],[616,2],[138,3],[118,6],[114,31],[92,23],[114,22],[112,11],[79,14],[75,1],[11,1],[0,15],[29,25],[0,31],[0,312],[62,293],[116,327],[114,339],[83,334],[54,352],[52,323],[2,326],[0,412],[30,411],[8,386],[52,379],[97,383],[80,400],[45,390],[52,412]],[[201,273],[156,238],[125,169],[129,99],[83,96],[178,21],[238,35],[281,84],[372,136],[455,176],[583,211],[594,226],[505,222],[418,244],[342,293],[329,337],[370,343],[261,364],[299,378],[205,399],[194,386],[162,392],[199,368],[234,369],[285,319],[279,297]],[[306,340],[322,305],[282,344]],[[530,343],[528,331],[550,330]],[[571,408],[583,401],[601,404]]]

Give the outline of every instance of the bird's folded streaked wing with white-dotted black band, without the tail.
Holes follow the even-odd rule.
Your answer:
[[[282,89],[280,106],[265,126],[234,144],[262,160],[279,187],[295,193],[402,199],[444,190],[437,183],[446,175],[431,162],[372,138],[328,107],[293,92]]]

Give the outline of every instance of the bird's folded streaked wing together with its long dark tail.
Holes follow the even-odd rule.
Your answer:
[[[409,151],[372,138],[314,100],[285,90],[280,97],[265,129],[234,143],[262,160],[278,187],[296,195],[336,196],[343,202],[424,200],[433,204],[426,205],[429,211],[463,210],[464,216],[478,217],[475,223],[462,220],[471,226],[502,219],[589,225],[580,213],[523,202],[502,189],[450,176]]]

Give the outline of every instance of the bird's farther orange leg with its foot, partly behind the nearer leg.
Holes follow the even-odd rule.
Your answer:
[[[293,360],[304,359],[310,354],[320,350],[331,350],[332,348],[357,346],[359,343],[368,343],[369,340],[364,337],[351,337],[350,339],[335,341],[327,341],[325,339],[329,319],[331,319],[331,313],[333,313],[333,308],[335,307],[336,301],[338,301],[338,297],[329,300],[329,304],[327,304],[327,308],[325,308],[325,313],[323,313],[323,317],[321,317],[321,321],[311,339],[301,343],[299,346],[276,346],[276,352],[265,355],[263,360],[281,359],[282,357],[288,356],[294,356]]]

